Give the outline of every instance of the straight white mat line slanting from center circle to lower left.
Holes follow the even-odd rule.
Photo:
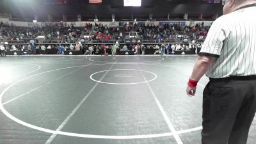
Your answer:
[[[111,68],[115,65],[115,63],[113,63],[113,65],[111,65],[111,67],[108,70],[111,70]],[[108,70],[106,70],[106,73],[101,77],[100,81],[108,74]],[[76,108],[73,109],[73,111],[67,116],[67,118],[61,123],[61,125],[58,127],[58,129],[56,129],[56,132],[61,131],[61,129],[63,129],[63,127],[68,123],[68,121],[70,120],[70,118],[76,113],[76,111],[82,106],[82,104],[84,103],[84,101],[89,97],[89,95],[93,92],[93,90],[98,86],[99,83],[96,83],[93,88],[90,90],[89,93],[87,93],[87,95],[84,97],[83,100],[81,100],[81,102],[79,102],[79,104],[77,104]],[[51,135],[51,137],[45,142],[45,144],[50,144],[54,138],[57,136],[57,133],[54,133]]]

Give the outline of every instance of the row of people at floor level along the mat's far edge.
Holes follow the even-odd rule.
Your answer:
[[[45,54],[46,49],[56,49],[56,54],[63,54],[65,51],[79,51],[80,54],[111,54],[113,52],[113,46],[115,45],[116,54],[119,54],[120,51],[134,51],[135,54],[142,53],[145,54],[145,51],[154,51],[154,54],[172,54],[173,51],[193,51],[201,47],[198,44],[167,44],[167,45],[1,45],[1,52],[5,54],[6,51],[22,51],[26,54]],[[148,49],[148,50],[147,50]],[[40,53],[36,53],[36,51]],[[2,54],[1,54],[2,55]]]

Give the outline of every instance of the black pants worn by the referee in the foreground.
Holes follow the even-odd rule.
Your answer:
[[[203,98],[202,144],[246,144],[255,112],[255,77],[210,79]]]

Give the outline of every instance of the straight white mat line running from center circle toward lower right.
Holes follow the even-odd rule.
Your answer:
[[[138,65],[138,67],[139,67],[139,65]],[[139,67],[139,69],[140,69],[140,67]],[[146,77],[144,76],[144,74],[142,72],[141,72],[141,75],[143,76],[144,80],[147,81]],[[163,106],[161,105],[161,103],[157,99],[156,94],[154,93],[154,91],[152,90],[152,88],[151,88],[151,86],[150,86],[150,84],[148,82],[147,82],[147,86],[148,86],[148,89],[150,90],[150,92],[152,93],[152,96],[154,97],[158,108],[160,109],[162,115],[164,116],[165,122],[167,123],[169,129],[173,133],[173,136],[174,136],[175,140],[177,141],[178,144],[183,144],[181,139],[180,139],[180,137],[179,137],[179,134],[177,134],[177,131],[175,130],[175,128],[174,128],[170,118],[168,118],[168,115],[164,111]]]

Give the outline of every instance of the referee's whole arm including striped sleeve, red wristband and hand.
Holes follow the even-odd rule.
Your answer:
[[[187,94],[195,96],[196,84],[202,76],[207,72],[215,58],[219,58],[223,42],[229,35],[227,24],[219,18],[212,23],[209,33],[205,39],[204,46],[199,52],[198,60],[195,63],[193,73],[189,79]]]

